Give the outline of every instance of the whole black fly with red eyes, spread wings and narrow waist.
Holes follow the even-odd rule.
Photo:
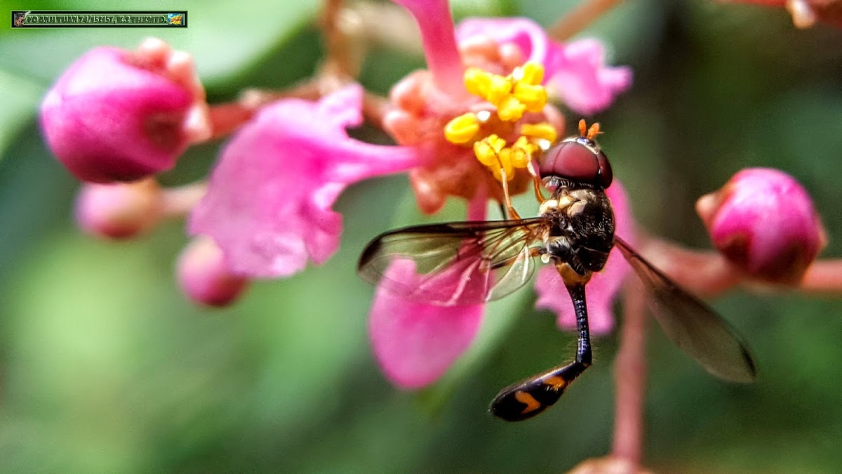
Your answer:
[[[717,377],[736,382],[755,378],[754,361],[733,327],[615,235],[614,213],[605,195],[612,172],[594,141],[599,132],[598,123],[586,130],[580,121],[579,136],[549,148],[537,171],[530,167],[541,201],[538,217],[520,218],[504,186],[508,220],[392,230],[372,240],[360,256],[358,271],[365,280],[405,299],[441,305],[478,304],[512,293],[530,280],[535,257],[556,267],[576,313],[576,356],[570,364],[500,391],[491,412],[505,420],[543,412],[591,365],[585,288],[615,246],[647,288],[650,310],[670,340]],[[543,197],[541,184],[552,197]],[[420,280],[409,282],[390,270],[407,263]]]

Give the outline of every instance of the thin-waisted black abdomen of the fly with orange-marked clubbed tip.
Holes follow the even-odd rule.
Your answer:
[[[584,299],[584,284],[568,286],[573,309],[576,310],[578,346],[576,359],[562,367],[537,374],[528,380],[510,385],[500,391],[491,402],[491,412],[504,420],[519,422],[543,412],[564,393],[573,380],[591,364],[593,355],[588,328],[588,306]]]

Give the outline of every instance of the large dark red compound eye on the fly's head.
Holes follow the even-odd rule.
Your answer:
[[[556,175],[566,180],[602,186],[607,170],[611,181],[611,167],[605,154],[581,143],[578,139],[565,140],[550,148],[540,166],[541,176]],[[603,186],[607,187],[607,186]]]

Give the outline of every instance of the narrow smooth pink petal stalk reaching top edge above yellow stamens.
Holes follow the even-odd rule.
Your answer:
[[[462,60],[453,35],[453,17],[447,0],[395,0],[412,13],[421,30],[427,67],[433,73],[436,86],[443,92],[459,97],[466,94],[462,85]]]

